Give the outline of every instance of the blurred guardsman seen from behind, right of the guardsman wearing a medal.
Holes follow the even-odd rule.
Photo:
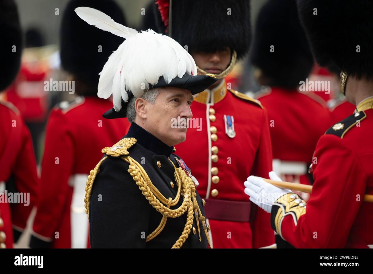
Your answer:
[[[259,84],[268,86],[257,98],[268,110],[273,170],[282,180],[309,185],[313,152],[331,122],[325,101],[312,91],[299,90],[314,61],[296,0],[264,4],[257,18],[250,60]],[[280,236],[276,236],[276,243],[278,248],[286,246]]]

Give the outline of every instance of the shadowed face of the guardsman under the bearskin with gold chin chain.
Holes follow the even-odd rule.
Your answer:
[[[191,55],[198,67],[213,74],[221,73],[231,63],[231,49],[229,47],[212,53],[192,52]]]

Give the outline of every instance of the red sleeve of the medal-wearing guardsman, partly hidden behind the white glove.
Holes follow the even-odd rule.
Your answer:
[[[272,145],[269,134],[267,110],[265,108],[263,108],[261,124],[263,126],[260,134],[260,144],[250,175],[269,179],[268,173],[272,171]],[[251,223],[253,248],[273,246],[275,243],[275,233],[271,228],[270,214],[253,203],[251,205],[255,207],[254,210],[251,210],[252,214],[256,214],[255,219]]]

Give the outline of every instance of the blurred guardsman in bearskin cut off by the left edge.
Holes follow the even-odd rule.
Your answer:
[[[22,31],[13,0],[0,0],[0,35],[2,92],[13,82],[21,63]],[[12,248],[35,205],[38,174],[30,132],[18,109],[0,102],[0,118],[0,248]]]

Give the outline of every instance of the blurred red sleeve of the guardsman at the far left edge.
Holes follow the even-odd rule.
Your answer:
[[[23,202],[16,203],[11,207],[13,228],[19,232],[22,232],[26,227],[28,216],[37,200],[39,185],[31,135],[23,121],[21,134],[22,145],[16,157],[12,174],[15,178],[17,191],[23,193]]]

